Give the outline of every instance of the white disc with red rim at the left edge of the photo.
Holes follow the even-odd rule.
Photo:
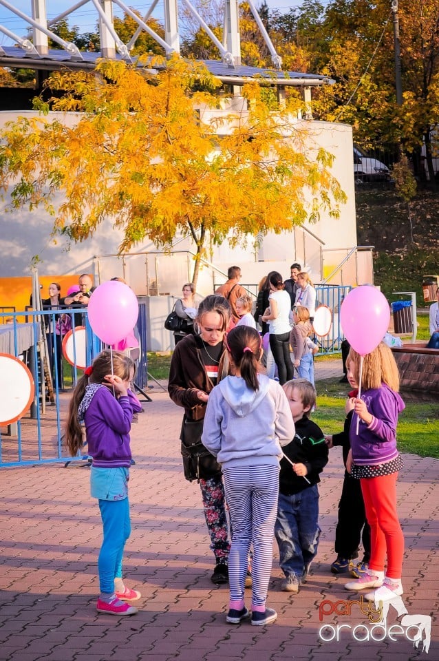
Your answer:
[[[34,394],[30,370],[18,358],[0,353],[0,425],[10,425],[22,418]]]

